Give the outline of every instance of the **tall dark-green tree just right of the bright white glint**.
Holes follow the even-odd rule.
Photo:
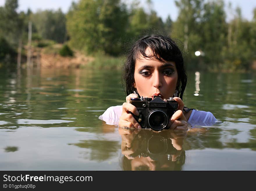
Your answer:
[[[227,44],[227,24],[224,2],[209,1],[204,4],[200,25],[202,50],[205,52],[205,67],[219,69],[223,62],[223,47]]]

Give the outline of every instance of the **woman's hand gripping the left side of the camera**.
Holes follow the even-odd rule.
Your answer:
[[[138,129],[141,128],[138,122],[131,115],[131,113],[133,113],[134,115],[139,116],[139,112],[137,108],[130,103],[131,98],[137,98],[137,97],[138,97],[137,94],[129,94],[126,97],[126,102],[123,103],[122,115],[119,118],[120,127],[138,128]]]

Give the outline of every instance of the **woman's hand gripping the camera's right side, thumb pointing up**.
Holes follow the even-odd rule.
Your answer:
[[[174,100],[178,102],[178,110],[170,118],[168,126],[170,129],[175,131],[187,131],[189,125],[186,117],[182,112],[184,108],[184,102],[179,97],[174,97]]]

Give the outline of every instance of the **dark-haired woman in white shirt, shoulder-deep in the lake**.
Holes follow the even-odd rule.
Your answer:
[[[210,112],[184,109],[182,96],[186,88],[187,75],[182,52],[171,38],[150,35],[134,43],[123,68],[126,85],[126,102],[122,106],[108,108],[99,118],[107,124],[121,127],[141,128],[131,113],[139,115],[131,98],[161,96],[166,101],[173,97],[178,110],[169,120],[168,128],[187,131],[194,125],[212,125],[216,118]],[[131,112],[131,113],[130,113]]]

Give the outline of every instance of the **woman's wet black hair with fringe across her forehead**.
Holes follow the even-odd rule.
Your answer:
[[[151,49],[152,55],[145,53],[147,47]],[[162,35],[149,35],[140,38],[129,50],[127,60],[123,66],[123,80],[125,81],[127,96],[136,91],[136,88],[134,88],[134,71],[135,62],[139,56],[156,58],[159,61],[175,62],[178,73],[176,90],[178,90],[178,97],[182,99],[187,84],[187,74],[184,67],[182,51],[172,38]]]

